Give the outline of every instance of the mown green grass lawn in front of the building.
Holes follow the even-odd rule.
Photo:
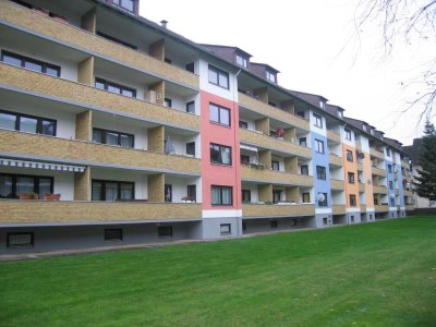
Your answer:
[[[1,326],[436,326],[436,217],[0,263]]]

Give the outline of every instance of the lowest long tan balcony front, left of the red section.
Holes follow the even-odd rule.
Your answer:
[[[201,204],[0,201],[0,225],[201,219]]]

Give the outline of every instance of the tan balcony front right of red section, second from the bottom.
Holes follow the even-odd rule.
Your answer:
[[[313,177],[305,174],[294,174],[270,169],[256,169],[247,166],[241,166],[241,172],[243,181],[301,186],[314,185]]]

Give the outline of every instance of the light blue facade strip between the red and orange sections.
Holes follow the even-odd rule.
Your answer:
[[[328,160],[328,145],[327,137],[318,133],[311,132],[312,138],[312,162],[313,162],[313,173],[314,173],[314,202],[315,208],[331,208],[331,192],[330,192],[330,169]],[[319,140],[324,143],[324,154],[317,153],[315,146],[315,140]],[[322,166],[326,168],[326,180],[319,180],[316,174],[316,166]],[[327,194],[327,206],[318,205],[318,193]]]

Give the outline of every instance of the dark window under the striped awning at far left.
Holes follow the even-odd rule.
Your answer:
[[[53,193],[53,178],[28,174],[0,173],[0,198],[19,198],[20,194]]]

